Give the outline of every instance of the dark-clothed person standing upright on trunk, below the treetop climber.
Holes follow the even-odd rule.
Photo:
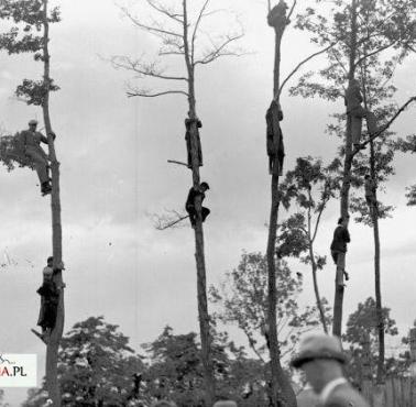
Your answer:
[[[283,133],[278,124],[283,120],[283,111],[281,105],[276,100],[272,100],[266,112],[266,139],[269,155],[269,174],[282,175],[283,161],[285,157],[285,148],[283,145]]]

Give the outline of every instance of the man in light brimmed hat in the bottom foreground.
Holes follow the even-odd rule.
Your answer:
[[[305,372],[321,407],[370,407],[343,376],[347,358],[339,338],[313,333],[303,338],[291,364]]]

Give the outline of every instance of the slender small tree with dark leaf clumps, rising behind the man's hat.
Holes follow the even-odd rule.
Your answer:
[[[326,256],[316,253],[315,242],[324,210],[339,190],[337,169],[340,164],[339,160],[335,160],[330,165],[324,166],[320,160],[297,158],[295,168],[286,173],[280,186],[285,209],[291,208],[291,202],[295,202],[298,209],[280,226],[278,252],[282,256],[300,257],[303,263],[310,265],[316,305],[326,333],[327,316],[317,278],[317,272],[326,264]]]

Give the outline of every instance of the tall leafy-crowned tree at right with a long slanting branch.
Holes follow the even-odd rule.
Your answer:
[[[317,1],[319,3],[319,1]],[[337,101],[343,95],[346,81],[351,84],[355,79],[359,68],[372,56],[384,61],[396,57],[397,63],[404,61],[415,46],[415,1],[375,1],[351,0],[349,4],[333,1],[328,19],[326,13],[319,14],[315,9],[307,8],[306,13],[298,19],[297,26],[313,33],[313,41],[321,45],[336,43],[327,53],[329,65],[319,72],[326,84],[311,79],[309,73],[300,78],[299,85],[292,89],[293,95],[310,97],[318,95],[327,100]],[[370,20],[364,21],[362,15],[370,11]],[[392,114],[381,128],[368,139],[362,146],[371,140],[379,138],[398,114],[414,100],[410,98],[401,109]],[[340,117],[340,116],[338,116]],[[343,120],[346,116],[341,116]],[[342,146],[343,172],[340,199],[340,215],[349,219],[349,195],[351,187],[351,169],[357,150],[352,148],[351,118],[347,116],[344,143]],[[340,336],[342,327],[343,285],[337,284],[333,301],[332,333]]]

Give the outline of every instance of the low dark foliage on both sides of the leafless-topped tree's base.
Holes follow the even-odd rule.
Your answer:
[[[244,351],[228,341],[226,333],[212,331],[212,360],[219,397],[234,399],[239,406],[265,402],[263,365],[248,359]],[[144,374],[147,399],[172,399],[178,407],[204,406],[204,370],[197,334],[174,334],[165,327],[152,343],[143,345],[150,366]]]

